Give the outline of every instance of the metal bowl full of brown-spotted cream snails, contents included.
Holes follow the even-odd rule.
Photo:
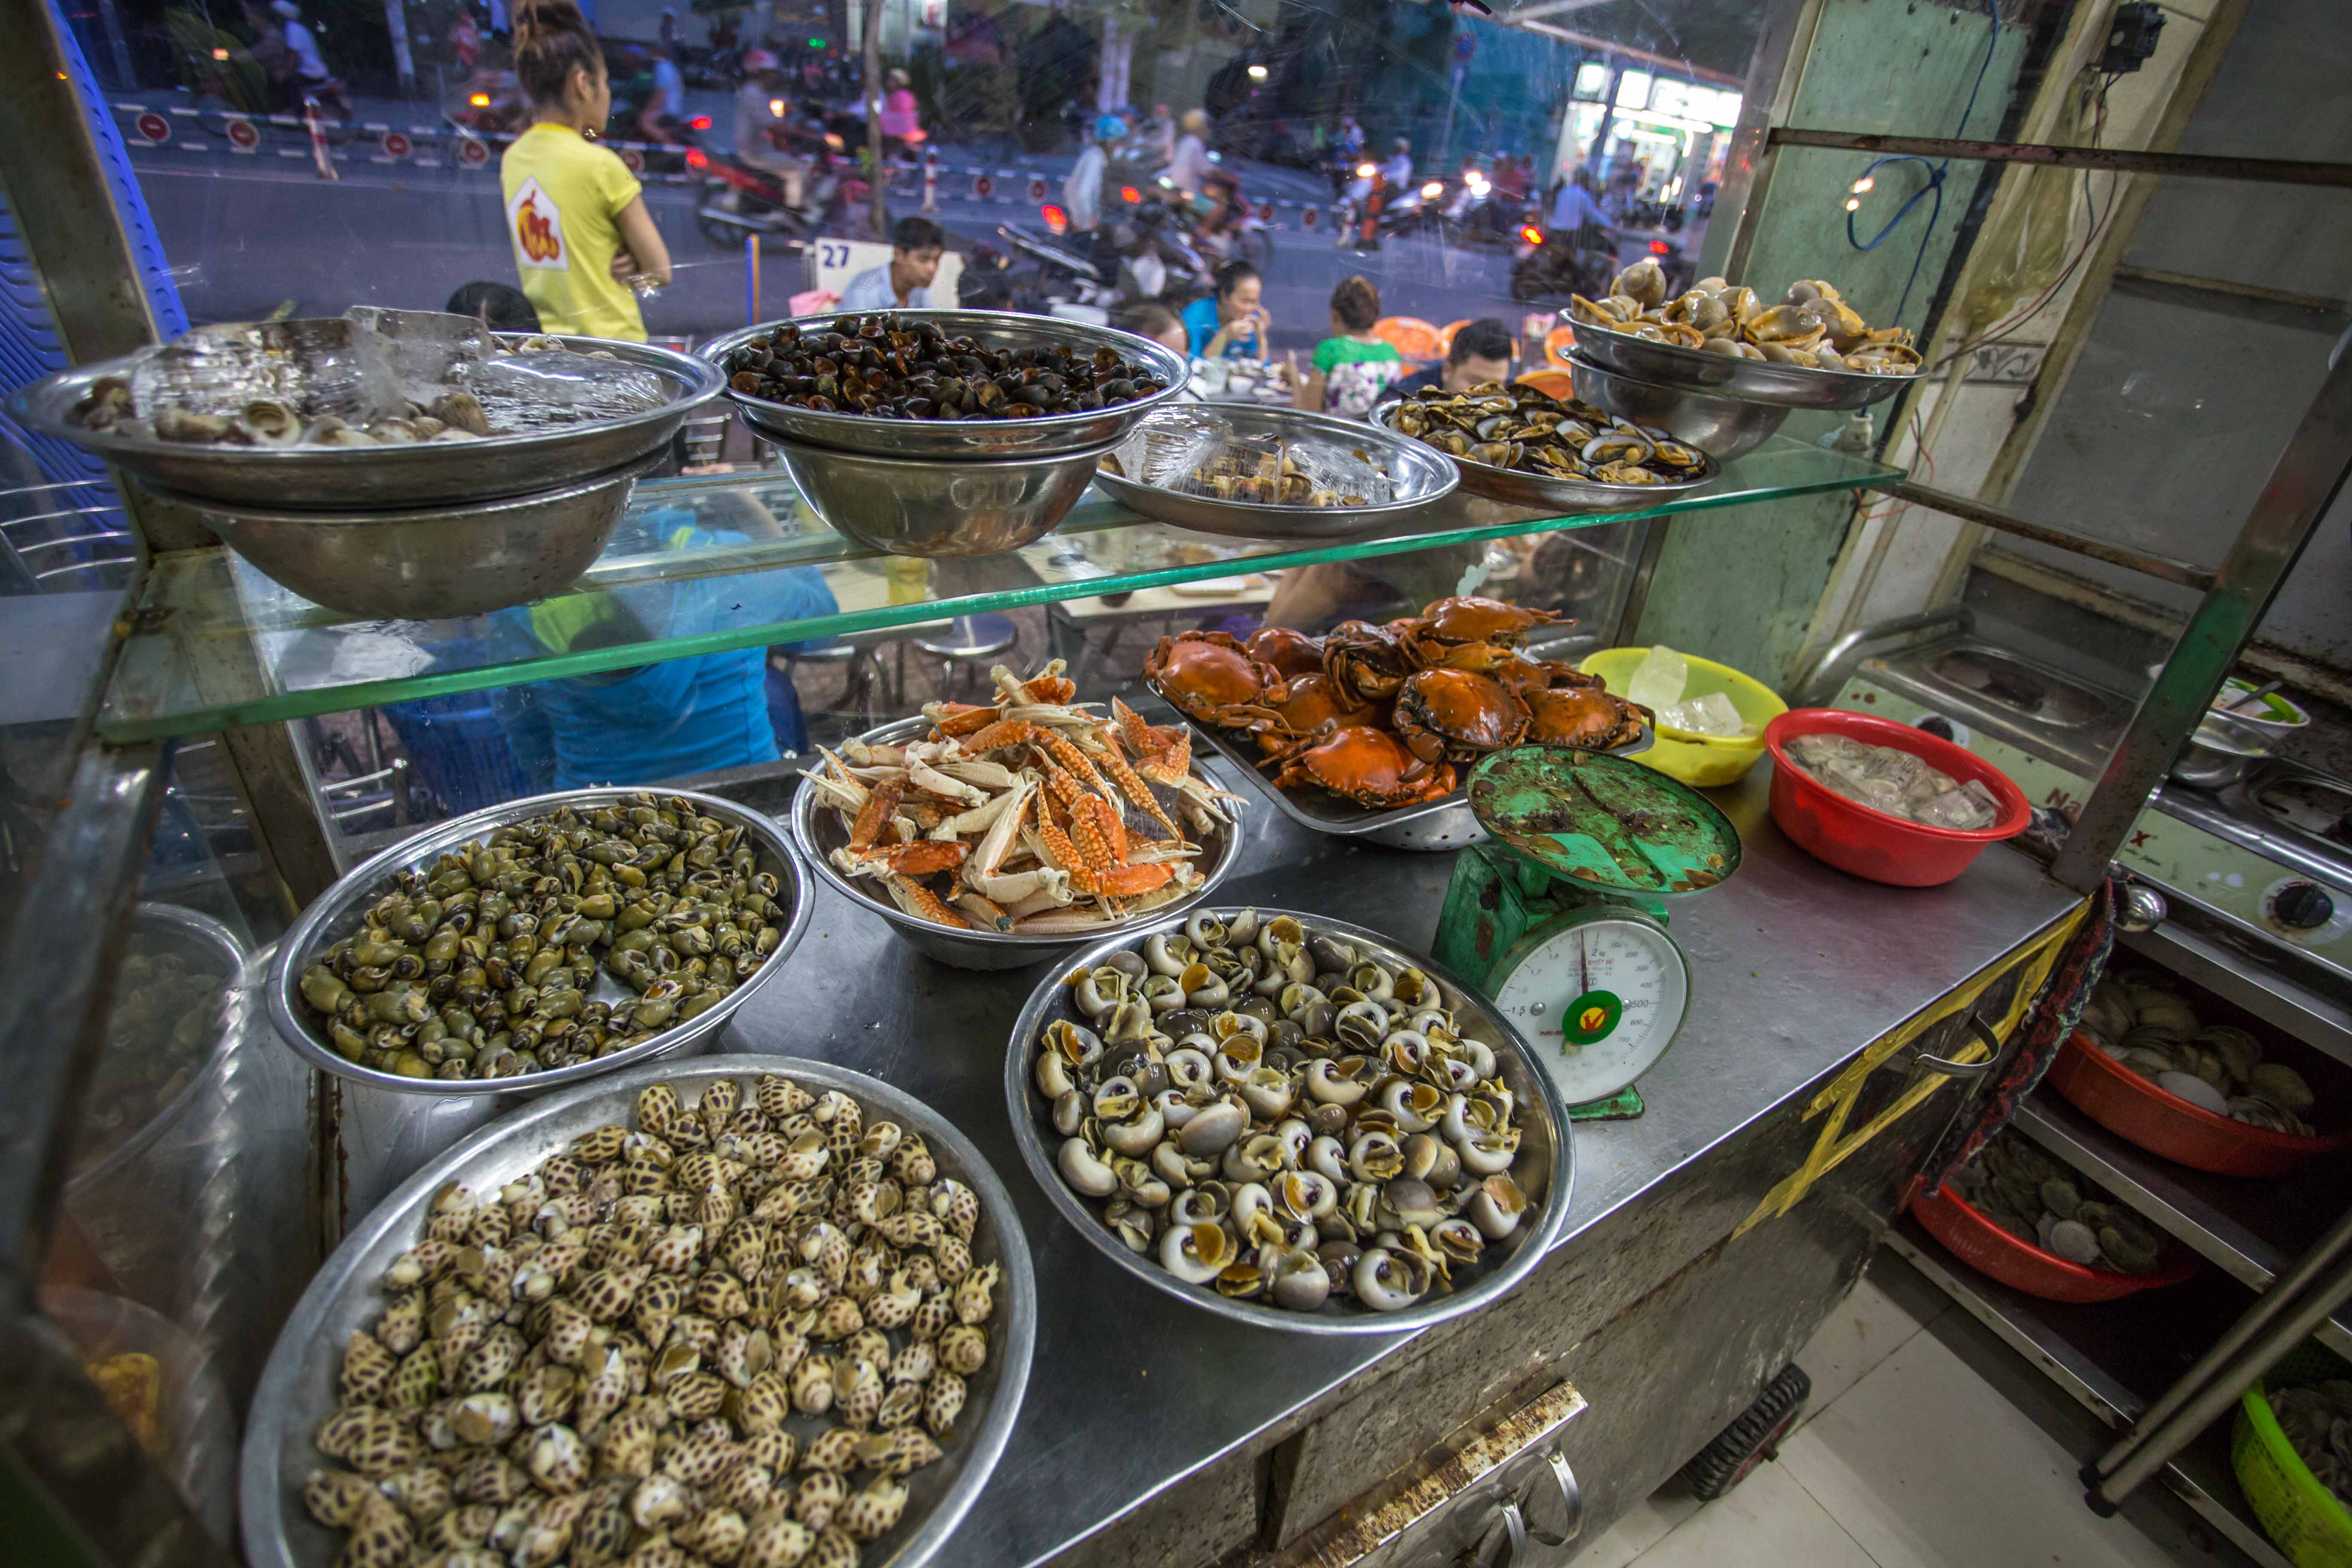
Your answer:
[[[854,1124],[837,1095],[861,1107]],[[816,1145],[809,1128],[783,1131],[800,1117],[823,1131]],[[887,1157],[868,1152],[882,1143]],[[673,1166],[656,1164],[661,1152]],[[696,1154],[720,1168],[717,1192],[668,1192],[670,1168]],[[783,1175],[786,1161],[816,1154],[828,1157],[816,1178]],[[858,1159],[887,1178],[816,1201],[826,1215],[884,1208],[870,1227],[797,1208]],[[917,1185],[927,1204],[906,1201]],[[574,1197],[597,1218],[560,1229]],[[628,1218],[623,1204],[637,1199],[663,1213]],[[696,1225],[666,1222],[682,1199]],[[776,1258],[786,1234],[800,1246]],[[882,1246],[889,1234],[906,1248]],[[616,1246],[640,1248],[637,1260]],[[941,1276],[931,1288],[906,1279],[917,1258],[927,1279]],[[873,1284],[877,1262],[891,1269],[863,1293],[873,1319],[818,1338],[847,1328],[851,1288]],[[884,1305],[903,1307],[910,1291],[922,1298],[913,1312]],[[790,1305],[811,1295],[811,1307]],[[835,1312],[842,1321],[828,1324]],[[889,1347],[887,1371],[868,1335]],[[1004,1182],[934,1110],[788,1056],[644,1065],[466,1138],[343,1239],[254,1394],[238,1493],[245,1559],[621,1561],[666,1535],[691,1552],[682,1561],[915,1568],[1004,1453],[1035,1335],[1037,1286]],[[830,1385],[823,1399],[818,1382]],[[887,1392],[906,1387],[922,1394]],[[466,1458],[447,1465],[456,1450]]]

